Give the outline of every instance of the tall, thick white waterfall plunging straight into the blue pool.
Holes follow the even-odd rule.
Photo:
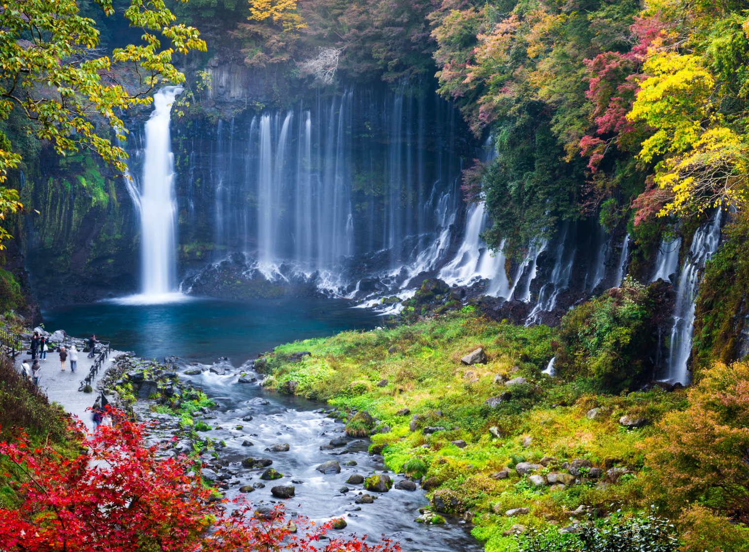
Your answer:
[[[142,189],[128,186],[141,221],[142,293],[120,302],[166,303],[184,297],[175,293],[177,206],[169,133],[172,103],[182,91],[178,86],[165,86],[154,94],[154,111],[145,124]]]

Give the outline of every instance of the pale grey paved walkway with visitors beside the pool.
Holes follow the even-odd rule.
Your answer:
[[[78,366],[76,366],[74,374],[70,371],[70,358],[65,363],[65,371],[61,371],[60,354],[47,353],[46,360],[39,361],[42,366],[39,373],[39,386],[46,393],[49,401],[61,404],[67,412],[81,419],[89,431],[93,431],[94,421],[91,419],[91,412],[86,412],[86,409],[94,406],[94,401],[98,397],[96,393],[97,381],[104,377],[107,368],[112,366],[112,360],[118,353],[119,351],[110,352],[103,366],[99,368],[96,378],[91,382],[91,387],[94,388],[92,393],[78,390],[81,380],[88,375],[91,365],[94,364],[94,359],[87,358],[88,353],[78,351]],[[19,371],[23,360],[28,360],[28,366],[31,366],[31,355],[24,351],[23,354],[16,357],[16,369]]]

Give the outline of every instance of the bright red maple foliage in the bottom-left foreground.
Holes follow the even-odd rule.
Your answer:
[[[202,482],[199,464],[187,457],[162,460],[156,447],[143,446],[145,425],[124,419],[100,427],[88,439],[80,422],[69,431],[82,449],[68,458],[51,446],[33,448],[21,435],[0,443],[10,473],[4,485],[16,491],[17,509],[0,509],[0,549],[4,551],[236,552],[313,551],[330,527],[315,529],[303,519],[300,536],[291,534],[284,508],[255,512],[235,501],[231,509]],[[366,545],[332,539],[328,552],[399,552],[384,541]]]

